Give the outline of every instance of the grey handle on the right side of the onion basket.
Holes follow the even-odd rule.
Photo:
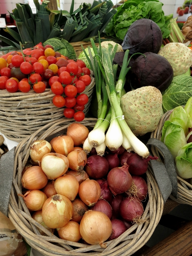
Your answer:
[[[158,148],[158,151],[160,151],[160,153],[163,155],[164,160],[165,160],[164,168],[166,169],[166,172],[168,174],[169,180],[171,181],[171,185],[172,185],[172,191],[170,194],[172,194],[177,199],[178,198],[177,173],[176,173],[176,169],[175,169],[174,158],[173,158],[171,152],[169,151],[169,149],[165,146],[165,144],[163,142],[161,142],[160,140],[157,140],[155,138],[149,139],[146,145],[147,146],[149,146],[149,145],[155,146],[156,148]],[[151,161],[151,165],[152,165],[152,161],[155,161],[155,160],[150,160],[150,161]],[[157,162],[157,161],[155,161],[155,162]],[[160,163],[160,162],[158,162],[158,163]],[[157,171],[158,171],[158,169],[154,170],[154,173],[155,172],[157,173]],[[166,179],[167,179],[166,177],[161,177],[161,180],[163,182],[165,182]],[[157,181],[157,183],[158,183],[158,181]]]

